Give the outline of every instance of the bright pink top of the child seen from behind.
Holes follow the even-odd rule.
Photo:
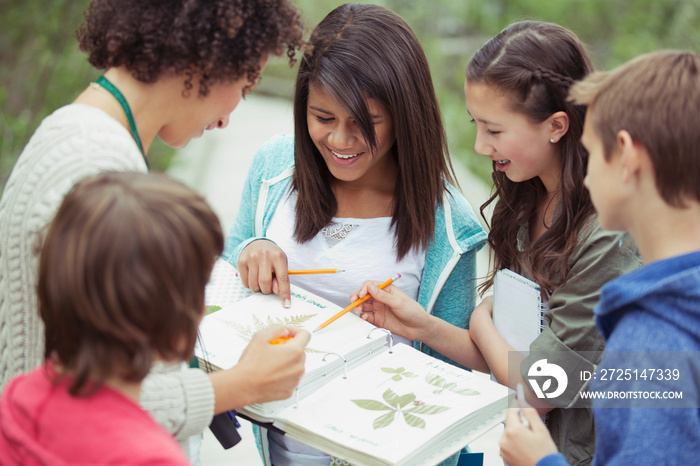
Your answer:
[[[12,379],[0,400],[2,465],[188,465],[173,439],[138,404],[102,387],[73,397],[50,366]]]

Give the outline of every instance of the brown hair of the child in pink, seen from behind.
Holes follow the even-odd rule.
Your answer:
[[[44,355],[74,377],[70,392],[140,381],[154,356],[189,358],[222,248],[204,198],[166,175],[77,183],[49,227],[38,285]]]

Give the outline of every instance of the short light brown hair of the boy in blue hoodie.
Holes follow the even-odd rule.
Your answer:
[[[613,71],[598,72],[571,89],[588,106],[588,118],[610,159],[617,133],[643,145],[654,167],[656,188],[670,205],[700,201],[700,55],[661,50]]]

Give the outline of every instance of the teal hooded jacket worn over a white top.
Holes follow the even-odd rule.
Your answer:
[[[237,266],[241,251],[265,238],[267,227],[294,173],[294,137],[279,135],[258,149],[243,188],[240,210],[226,238],[223,259]],[[486,233],[474,210],[453,186],[435,209],[435,236],[426,251],[418,302],[427,312],[469,328],[476,303],[476,253]],[[437,351],[414,343],[424,353],[459,365]]]

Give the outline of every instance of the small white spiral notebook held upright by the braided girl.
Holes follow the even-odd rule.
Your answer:
[[[496,272],[493,292],[493,323],[498,333],[520,353],[542,333],[549,310],[540,286],[509,269]]]

